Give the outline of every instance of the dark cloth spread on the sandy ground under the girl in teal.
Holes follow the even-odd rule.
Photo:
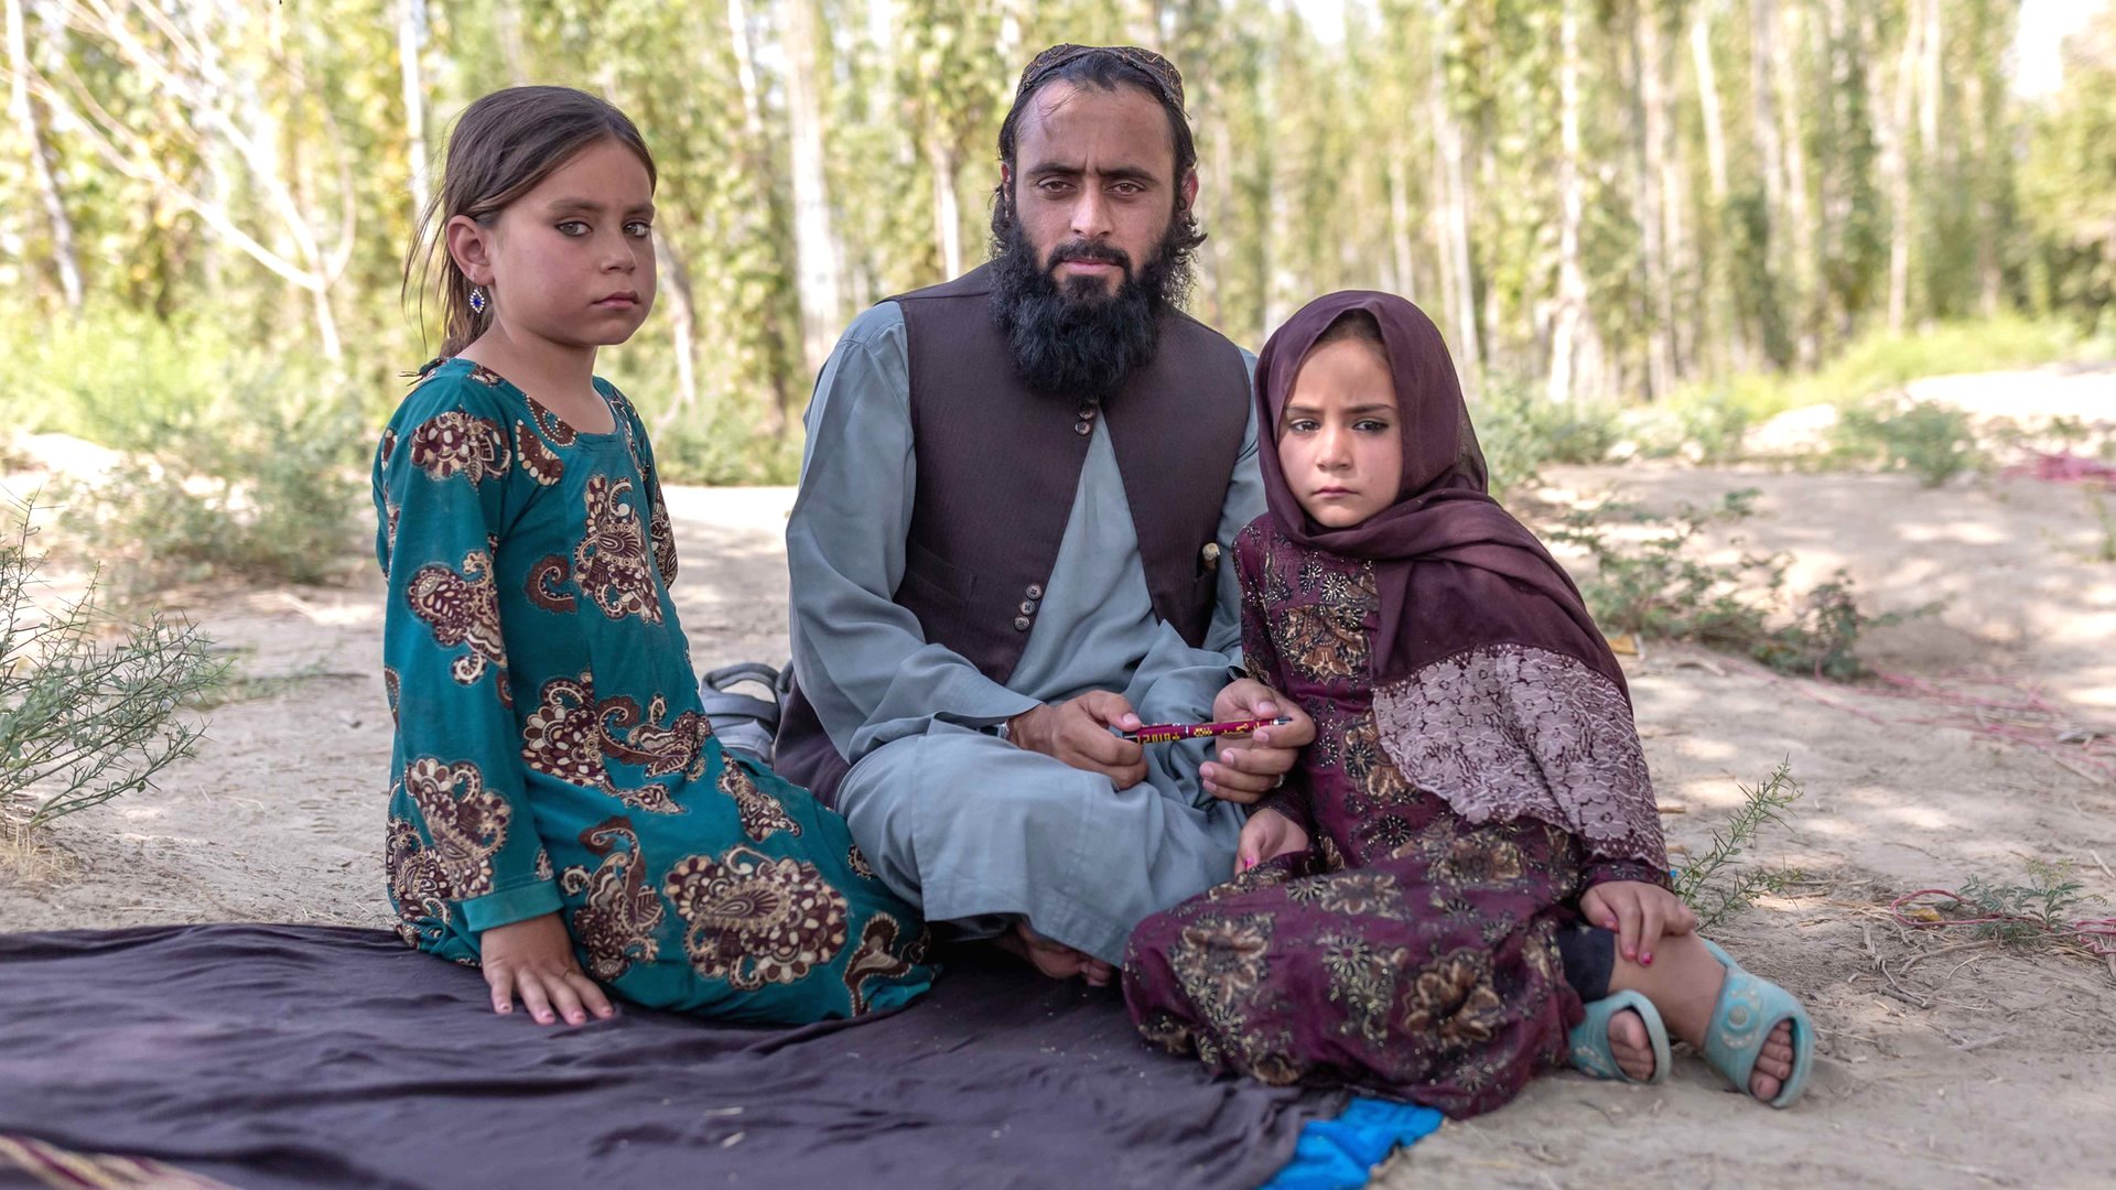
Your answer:
[[[546,1029],[383,932],[0,936],[0,1139],[243,1188],[1176,1190],[1265,1182],[1342,1103],[1153,1052],[1113,991],[954,959],[859,1025]]]

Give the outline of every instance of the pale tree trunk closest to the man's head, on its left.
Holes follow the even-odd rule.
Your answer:
[[[823,368],[838,337],[838,246],[829,231],[823,172],[823,76],[817,70],[817,0],[787,0],[787,123],[794,148],[794,258],[800,296],[802,364]]]

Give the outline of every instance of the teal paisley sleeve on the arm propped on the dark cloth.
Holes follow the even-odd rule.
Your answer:
[[[461,902],[472,932],[561,900],[523,783],[499,627],[495,553],[516,512],[508,423],[489,394],[430,381],[404,400],[375,464],[398,716],[391,817],[425,839],[436,891]]]

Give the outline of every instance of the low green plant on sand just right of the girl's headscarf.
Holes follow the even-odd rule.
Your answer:
[[[1634,506],[1604,502],[1570,512],[1551,540],[1581,546],[1593,559],[1595,572],[1581,595],[1602,631],[1695,642],[1752,656],[1780,673],[1852,682],[1866,671],[1858,659],[1862,633],[1938,608],[1868,614],[1858,606],[1852,578],[1839,570],[1799,599],[1790,616],[1782,614],[1790,555],[1739,553],[1716,561],[1701,540],[1708,529],[1752,517],[1756,495],[1754,487],[1744,487],[1716,508],[1682,504],[1659,521]],[[1619,531],[1619,521],[1642,531]]]

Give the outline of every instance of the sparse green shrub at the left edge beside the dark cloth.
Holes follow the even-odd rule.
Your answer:
[[[51,595],[30,510],[0,542],[0,826],[25,834],[110,798],[152,790],[203,726],[180,716],[220,678],[199,629],[121,623]],[[38,597],[42,593],[42,599]]]

